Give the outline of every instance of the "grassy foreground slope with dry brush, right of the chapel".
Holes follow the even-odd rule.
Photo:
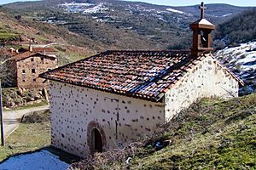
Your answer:
[[[153,136],[96,154],[71,169],[254,169],[255,113],[255,94],[201,99]]]

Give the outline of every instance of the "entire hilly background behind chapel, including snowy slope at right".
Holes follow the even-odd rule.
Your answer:
[[[189,24],[199,14],[197,5],[170,7],[115,0],[10,3],[0,7],[0,43],[19,48],[27,46],[33,37],[36,43],[49,44],[59,51],[59,65],[109,49],[190,48]],[[207,4],[207,20],[218,26],[215,47],[224,48],[256,37],[255,14],[255,8]],[[255,53],[249,53],[248,64],[240,62],[237,59],[247,58],[244,53],[248,49],[244,49],[240,54],[236,53],[237,48],[230,48],[227,53],[218,52],[217,57],[246,82],[241,93],[248,94],[255,91]],[[236,59],[229,60],[230,55]],[[241,63],[247,66],[241,67]]]

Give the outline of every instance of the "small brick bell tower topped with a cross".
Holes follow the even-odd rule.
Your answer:
[[[205,19],[206,7],[204,3],[201,3],[199,8],[201,9],[201,19],[189,26],[193,31],[193,47],[191,48],[191,54],[194,56],[213,50],[211,32],[215,29],[215,26]]]

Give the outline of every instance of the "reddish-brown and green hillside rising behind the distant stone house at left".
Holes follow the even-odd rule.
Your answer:
[[[0,8],[0,44],[9,48],[27,47],[29,39],[34,38],[34,44],[49,44],[60,54],[59,65],[96,54],[101,47],[90,48],[90,40],[79,38],[78,34],[48,23],[35,22],[29,16],[21,15],[8,8]]]

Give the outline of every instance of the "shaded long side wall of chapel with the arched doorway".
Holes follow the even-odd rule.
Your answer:
[[[50,81],[49,94],[52,144],[82,157],[92,150],[94,128],[107,150],[153,133],[165,121],[163,103],[54,81]]]

